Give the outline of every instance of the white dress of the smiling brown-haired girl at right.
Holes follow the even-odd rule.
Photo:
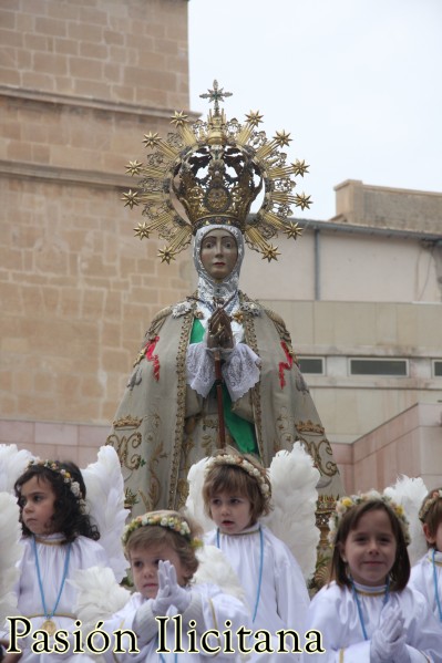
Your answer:
[[[370,638],[387,604],[400,609],[405,619],[410,661],[404,663],[442,662],[442,633],[422,594],[405,588],[390,592],[386,603],[384,587],[354,586],[369,640],[364,640],[353,593],[331,582],[312,598],[307,613],[307,629],[322,633],[326,653],[304,653],[304,663],[370,663]]]

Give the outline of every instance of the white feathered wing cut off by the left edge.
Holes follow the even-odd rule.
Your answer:
[[[0,625],[7,617],[17,614],[13,590],[20,576],[18,563],[23,555],[19,516],[16,498],[9,493],[0,493]]]

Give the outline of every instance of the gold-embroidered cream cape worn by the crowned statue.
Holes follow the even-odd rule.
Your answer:
[[[276,452],[300,439],[321,473],[320,495],[332,503],[342,494],[339,472],[286,325],[241,292],[239,302],[235,315],[244,342],[261,363],[259,382],[233,403],[233,411],[253,423],[267,467]],[[217,448],[216,398],[212,393],[203,398],[186,381],[186,352],[197,317],[197,303],[187,300],[154,318],[107,437],[122,464],[133,516],[182,507],[191,465]]]

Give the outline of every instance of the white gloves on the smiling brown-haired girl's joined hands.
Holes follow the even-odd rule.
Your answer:
[[[409,663],[403,630],[404,618],[400,610],[388,605],[381,613],[381,621],[371,638],[370,663]]]

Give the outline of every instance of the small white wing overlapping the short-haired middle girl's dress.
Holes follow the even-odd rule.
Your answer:
[[[217,584],[226,594],[246,602],[244,589],[224,552],[216,546],[203,546],[197,550],[196,557],[199,560],[198,570],[194,574],[196,584]]]

